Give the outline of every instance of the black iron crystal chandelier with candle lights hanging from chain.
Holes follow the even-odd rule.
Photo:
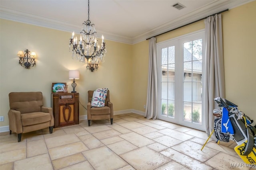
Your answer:
[[[106,51],[106,44],[104,42],[104,36],[102,35],[101,46],[97,40],[97,33],[94,24],[90,21],[90,8],[88,0],[88,20],[84,21],[82,32],[80,32],[80,39],[77,42],[77,37],[74,38],[74,32],[69,40],[69,51],[72,51],[72,59],[79,60],[85,63],[87,59],[86,68],[90,71],[98,69],[98,64],[104,62]]]

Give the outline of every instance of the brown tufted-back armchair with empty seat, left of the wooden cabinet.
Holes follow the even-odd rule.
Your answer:
[[[17,133],[18,142],[22,133],[49,127],[53,131],[54,117],[52,108],[43,106],[42,92],[9,93],[8,112],[10,134]]]

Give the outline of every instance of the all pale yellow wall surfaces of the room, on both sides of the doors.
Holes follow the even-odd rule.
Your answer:
[[[256,121],[256,1],[222,14],[226,98]],[[76,91],[80,101],[87,103],[87,91],[108,87],[114,111],[136,109],[144,112],[148,81],[148,40],[135,45],[106,41],[106,62],[96,72],[71,59],[68,39],[71,33],[13,21],[0,20],[0,115],[8,125],[8,93],[42,91],[44,103],[50,106],[52,82],[67,82],[72,91],[68,70],[80,70]],[[160,35],[157,43],[204,28],[204,21]],[[38,55],[35,68],[18,65],[16,53],[28,48]],[[80,115],[86,110],[80,106]]]

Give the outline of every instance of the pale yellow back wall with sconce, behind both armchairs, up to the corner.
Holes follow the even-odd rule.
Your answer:
[[[0,25],[0,115],[4,116],[0,127],[8,125],[10,92],[41,91],[44,105],[50,107],[52,83],[66,82],[71,92],[68,70],[74,69],[80,70],[76,91],[80,93],[82,105],[87,104],[88,90],[106,87],[110,90],[114,111],[132,108],[132,45],[106,40],[106,60],[100,63],[98,71],[90,72],[84,63],[73,60],[68,51],[71,32],[8,20],[0,20]],[[30,69],[20,66],[16,55],[19,50],[26,49],[38,55],[36,66]],[[80,116],[86,114],[80,105]]]

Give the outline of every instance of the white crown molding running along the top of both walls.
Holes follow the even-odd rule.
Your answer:
[[[127,44],[136,44],[141,41],[145,41],[147,38],[153,37],[160,33],[164,33],[176,27],[180,27],[192,21],[199,20],[200,18],[204,18],[216,12],[226,10],[227,8],[232,9],[252,1],[253,0],[229,0],[229,1],[216,0],[216,1],[213,1],[211,4],[204,6],[203,8],[194,10],[193,12],[190,12],[189,14],[186,14],[179,18],[176,18],[175,20],[159,25],[158,27],[149,29],[148,31],[145,31],[144,33],[141,33],[140,35],[137,35],[134,38],[119,36],[119,35],[107,33],[101,30],[97,30],[97,34],[105,35],[107,40],[117,41],[117,42],[127,43]],[[0,18],[5,20],[12,20],[17,22],[37,25],[40,27],[57,29],[60,31],[67,31],[70,33],[74,31],[75,33],[79,34],[81,31],[81,25],[74,25],[65,21],[52,20],[50,18],[32,15],[26,12],[12,10],[2,6],[0,7]]]

